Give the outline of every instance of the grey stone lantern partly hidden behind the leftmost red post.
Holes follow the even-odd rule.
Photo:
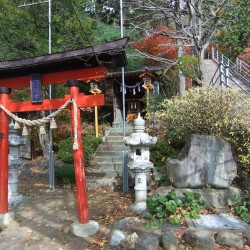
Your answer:
[[[20,160],[20,146],[26,144],[26,138],[21,138],[14,129],[14,123],[9,125],[9,180],[8,203],[17,204],[23,196],[18,194],[18,168],[22,165]]]

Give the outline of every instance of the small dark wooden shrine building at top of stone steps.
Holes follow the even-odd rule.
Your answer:
[[[155,72],[159,71],[161,66],[146,66],[135,71],[125,71],[124,74],[124,94],[125,94],[125,119],[128,123],[137,118],[138,113],[146,112],[145,100],[146,90],[143,87],[144,81],[142,75],[149,72],[152,76],[152,94],[159,94],[160,82]],[[123,84],[122,73],[109,71],[105,84],[105,105],[110,107],[113,114],[113,126],[122,126],[123,117]]]

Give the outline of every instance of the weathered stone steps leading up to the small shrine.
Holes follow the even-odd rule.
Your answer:
[[[126,136],[134,132],[132,126],[126,127]],[[117,185],[117,177],[122,177],[123,152],[130,148],[123,142],[123,128],[112,127],[106,131],[103,142],[92,156],[86,169],[88,187],[110,187]]]

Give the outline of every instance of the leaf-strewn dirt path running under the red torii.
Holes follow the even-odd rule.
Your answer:
[[[133,202],[131,195],[89,191],[90,219],[98,221],[100,230],[94,236],[80,238],[69,231],[70,224],[77,220],[74,188],[56,186],[55,192],[50,192],[47,179],[21,176],[19,193],[25,199],[10,208],[16,218],[1,228],[0,249],[116,249],[108,245],[112,226],[124,217],[135,216],[127,211]]]

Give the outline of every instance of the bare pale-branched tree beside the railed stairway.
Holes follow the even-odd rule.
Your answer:
[[[192,46],[202,64],[204,52],[220,23],[223,8],[228,0],[137,0],[130,1],[132,27],[145,33],[163,35],[178,41],[176,44]],[[178,8],[176,8],[178,6]],[[137,18],[139,13],[140,19]],[[141,25],[142,24],[142,25]],[[171,31],[158,31],[167,26]],[[202,67],[198,83],[202,82]]]

